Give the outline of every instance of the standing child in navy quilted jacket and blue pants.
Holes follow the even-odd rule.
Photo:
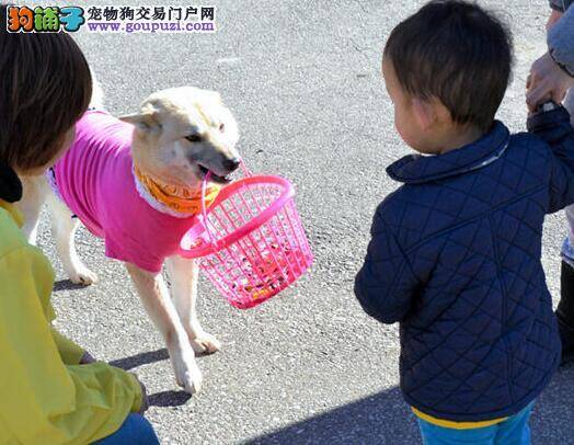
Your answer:
[[[355,294],[400,321],[401,389],[425,444],[528,444],[533,401],[560,362],[540,261],[544,215],[574,202],[562,107],[510,135],[494,115],[510,35],[480,7],[433,1],[391,33],[382,72],[414,150],[377,208]]]

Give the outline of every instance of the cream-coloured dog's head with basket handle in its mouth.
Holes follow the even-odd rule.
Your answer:
[[[165,182],[195,187],[210,171],[213,181],[227,183],[240,164],[237,122],[214,91],[159,91],[119,118],[135,125],[135,161]]]

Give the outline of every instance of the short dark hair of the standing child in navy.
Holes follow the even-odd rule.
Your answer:
[[[510,80],[512,35],[477,4],[434,0],[392,31],[384,57],[405,92],[436,98],[452,121],[486,132]]]

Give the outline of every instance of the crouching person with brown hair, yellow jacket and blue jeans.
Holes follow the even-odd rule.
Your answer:
[[[54,272],[19,226],[16,175],[43,174],[87,110],[88,64],[64,33],[9,34],[0,5],[0,443],[157,444],[135,376],[56,332]]]

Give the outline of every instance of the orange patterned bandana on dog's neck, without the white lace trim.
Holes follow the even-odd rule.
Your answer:
[[[148,193],[171,210],[188,215],[196,215],[202,212],[202,189],[190,190],[165,184],[150,174],[142,173],[135,164],[134,172]],[[219,185],[207,187],[205,192],[206,208],[214,203],[220,190]]]

